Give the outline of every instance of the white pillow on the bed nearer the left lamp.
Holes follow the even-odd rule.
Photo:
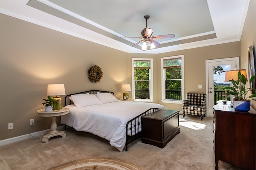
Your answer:
[[[71,97],[76,107],[85,107],[85,106],[102,104],[102,102],[100,102],[100,100],[94,94],[74,95],[74,96],[71,95]]]

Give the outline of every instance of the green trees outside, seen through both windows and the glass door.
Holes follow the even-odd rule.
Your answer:
[[[165,61],[165,87],[166,99],[181,100],[182,94],[182,70],[181,59],[171,59]],[[149,61],[134,61],[134,80],[135,80],[135,98],[148,99],[149,94]],[[222,66],[214,66],[213,74],[221,74],[225,72]],[[214,101],[229,100],[230,94],[225,91],[225,88],[230,86],[224,84],[217,84],[214,80]]]

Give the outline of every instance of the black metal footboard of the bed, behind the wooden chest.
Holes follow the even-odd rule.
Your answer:
[[[151,108],[151,109],[148,109],[147,111],[144,111],[140,115],[134,117],[133,119],[131,119],[130,121],[127,122],[127,124],[126,124],[125,151],[128,150],[128,144],[129,143],[132,143],[133,141],[135,141],[136,139],[139,139],[141,137],[141,129],[140,129],[141,119],[140,119],[140,117],[142,117],[144,115],[152,114],[155,111],[158,111],[160,109],[166,109],[166,108],[161,107],[161,108]],[[137,126],[138,126],[138,131],[134,130],[134,129],[137,128]],[[128,135],[128,132],[130,132],[131,135]]]

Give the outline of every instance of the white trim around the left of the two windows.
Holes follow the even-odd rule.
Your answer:
[[[149,71],[149,98],[150,99],[136,99],[135,100],[135,83],[134,83],[134,61],[150,61],[150,71]],[[132,99],[140,102],[154,102],[153,96],[153,59],[148,58],[132,58]]]

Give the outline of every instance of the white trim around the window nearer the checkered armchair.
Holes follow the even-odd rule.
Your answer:
[[[175,59],[175,58],[181,58],[182,64],[181,64],[181,84],[182,84],[182,89],[181,89],[181,98],[182,100],[184,100],[184,92],[185,92],[185,86],[184,86],[184,55],[176,55],[176,56],[172,56],[172,57],[162,57],[161,58],[161,82],[162,82],[162,103],[173,103],[173,104],[182,104],[182,100],[170,100],[170,99],[165,99],[165,79],[164,79],[164,60],[166,59]]]

